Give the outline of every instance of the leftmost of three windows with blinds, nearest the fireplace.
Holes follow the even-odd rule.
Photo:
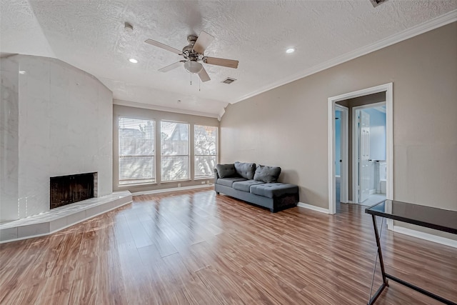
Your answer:
[[[119,185],[156,182],[156,122],[119,117]]]

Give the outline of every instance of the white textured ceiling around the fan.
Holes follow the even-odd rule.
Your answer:
[[[1,53],[49,56],[99,78],[114,99],[223,113],[303,71],[457,9],[456,0],[389,0],[373,8],[351,1],[1,0]],[[134,32],[124,31],[124,22]],[[215,37],[206,56],[237,59],[238,69],[206,64],[211,81],[184,69],[157,71],[180,56],[144,43],[182,49],[189,34]],[[296,48],[286,54],[288,47]],[[139,64],[131,64],[134,57]],[[222,84],[226,77],[237,79]],[[180,102],[178,102],[180,100]]]

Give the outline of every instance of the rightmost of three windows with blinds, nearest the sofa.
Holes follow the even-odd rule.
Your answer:
[[[214,176],[217,159],[217,127],[194,126],[195,178]]]

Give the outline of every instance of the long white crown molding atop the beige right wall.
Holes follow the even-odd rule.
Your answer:
[[[262,94],[263,92],[269,91],[271,89],[275,89],[278,86],[283,86],[285,84],[291,83],[292,81],[296,81],[297,79],[303,79],[303,77],[310,76],[312,74],[318,73],[320,71],[326,70],[331,68],[332,66],[337,66],[338,64],[343,64],[346,61],[350,61],[352,59],[356,59],[357,57],[369,54],[373,51],[378,51],[379,49],[386,48],[386,46],[391,46],[392,44],[396,44],[406,39],[410,39],[414,36],[418,36],[420,34],[426,33],[427,31],[431,31],[433,29],[437,29],[441,26],[445,26],[446,24],[451,24],[452,22],[457,21],[457,9],[453,11],[449,11],[446,14],[438,16],[434,19],[428,20],[423,24],[418,24],[417,26],[413,26],[409,29],[403,30],[394,34],[392,36],[388,36],[385,39],[381,39],[373,44],[368,44],[367,46],[363,46],[359,49],[354,51],[348,52],[341,56],[337,56],[333,59],[323,62],[322,64],[318,64],[316,66],[311,67],[310,69],[306,69],[305,71],[301,71],[298,74],[292,74],[284,79],[280,79],[275,81],[273,84],[268,84],[267,86],[261,87],[256,91],[251,92],[250,94],[246,94],[241,96],[241,98],[231,101],[230,104],[238,103],[238,101],[243,101],[245,99],[249,99],[253,96],[258,94]]]

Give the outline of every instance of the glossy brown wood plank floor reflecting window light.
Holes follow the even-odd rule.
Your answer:
[[[137,196],[1,244],[0,304],[366,304],[376,249],[363,211],[271,214],[209,189]],[[457,249],[386,229],[381,243],[389,273],[457,302]],[[440,303],[391,281],[376,304]]]

